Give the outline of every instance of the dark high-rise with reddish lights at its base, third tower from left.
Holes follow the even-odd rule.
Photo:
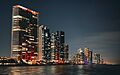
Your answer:
[[[51,61],[55,63],[64,63],[65,61],[65,39],[64,32],[57,31],[51,34]],[[66,46],[66,52],[67,52]],[[66,53],[67,58],[67,53]]]

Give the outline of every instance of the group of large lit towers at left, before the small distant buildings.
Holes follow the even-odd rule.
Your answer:
[[[68,46],[65,44],[65,32],[50,32],[45,25],[40,25],[39,12],[21,5],[13,6],[11,58],[18,63],[40,62],[63,64],[68,63]]]

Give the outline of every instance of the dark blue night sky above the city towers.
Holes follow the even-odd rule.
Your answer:
[[[120,64],[119,0],[0,0],[0,56],[10,55],[12,6],[40,12],[39,24],[65,32],[70,55],[88,47]]]

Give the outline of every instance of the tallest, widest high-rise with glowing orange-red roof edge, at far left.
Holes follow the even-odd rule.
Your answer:
[[[13,6],[11,57],[32,60],[37,56],[38,14],[20,5]]]

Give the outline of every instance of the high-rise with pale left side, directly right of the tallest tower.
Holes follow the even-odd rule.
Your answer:
[[[46,63],[51,60],[50,30],[47,26],[40,25],[38,30],[38,60]]]

